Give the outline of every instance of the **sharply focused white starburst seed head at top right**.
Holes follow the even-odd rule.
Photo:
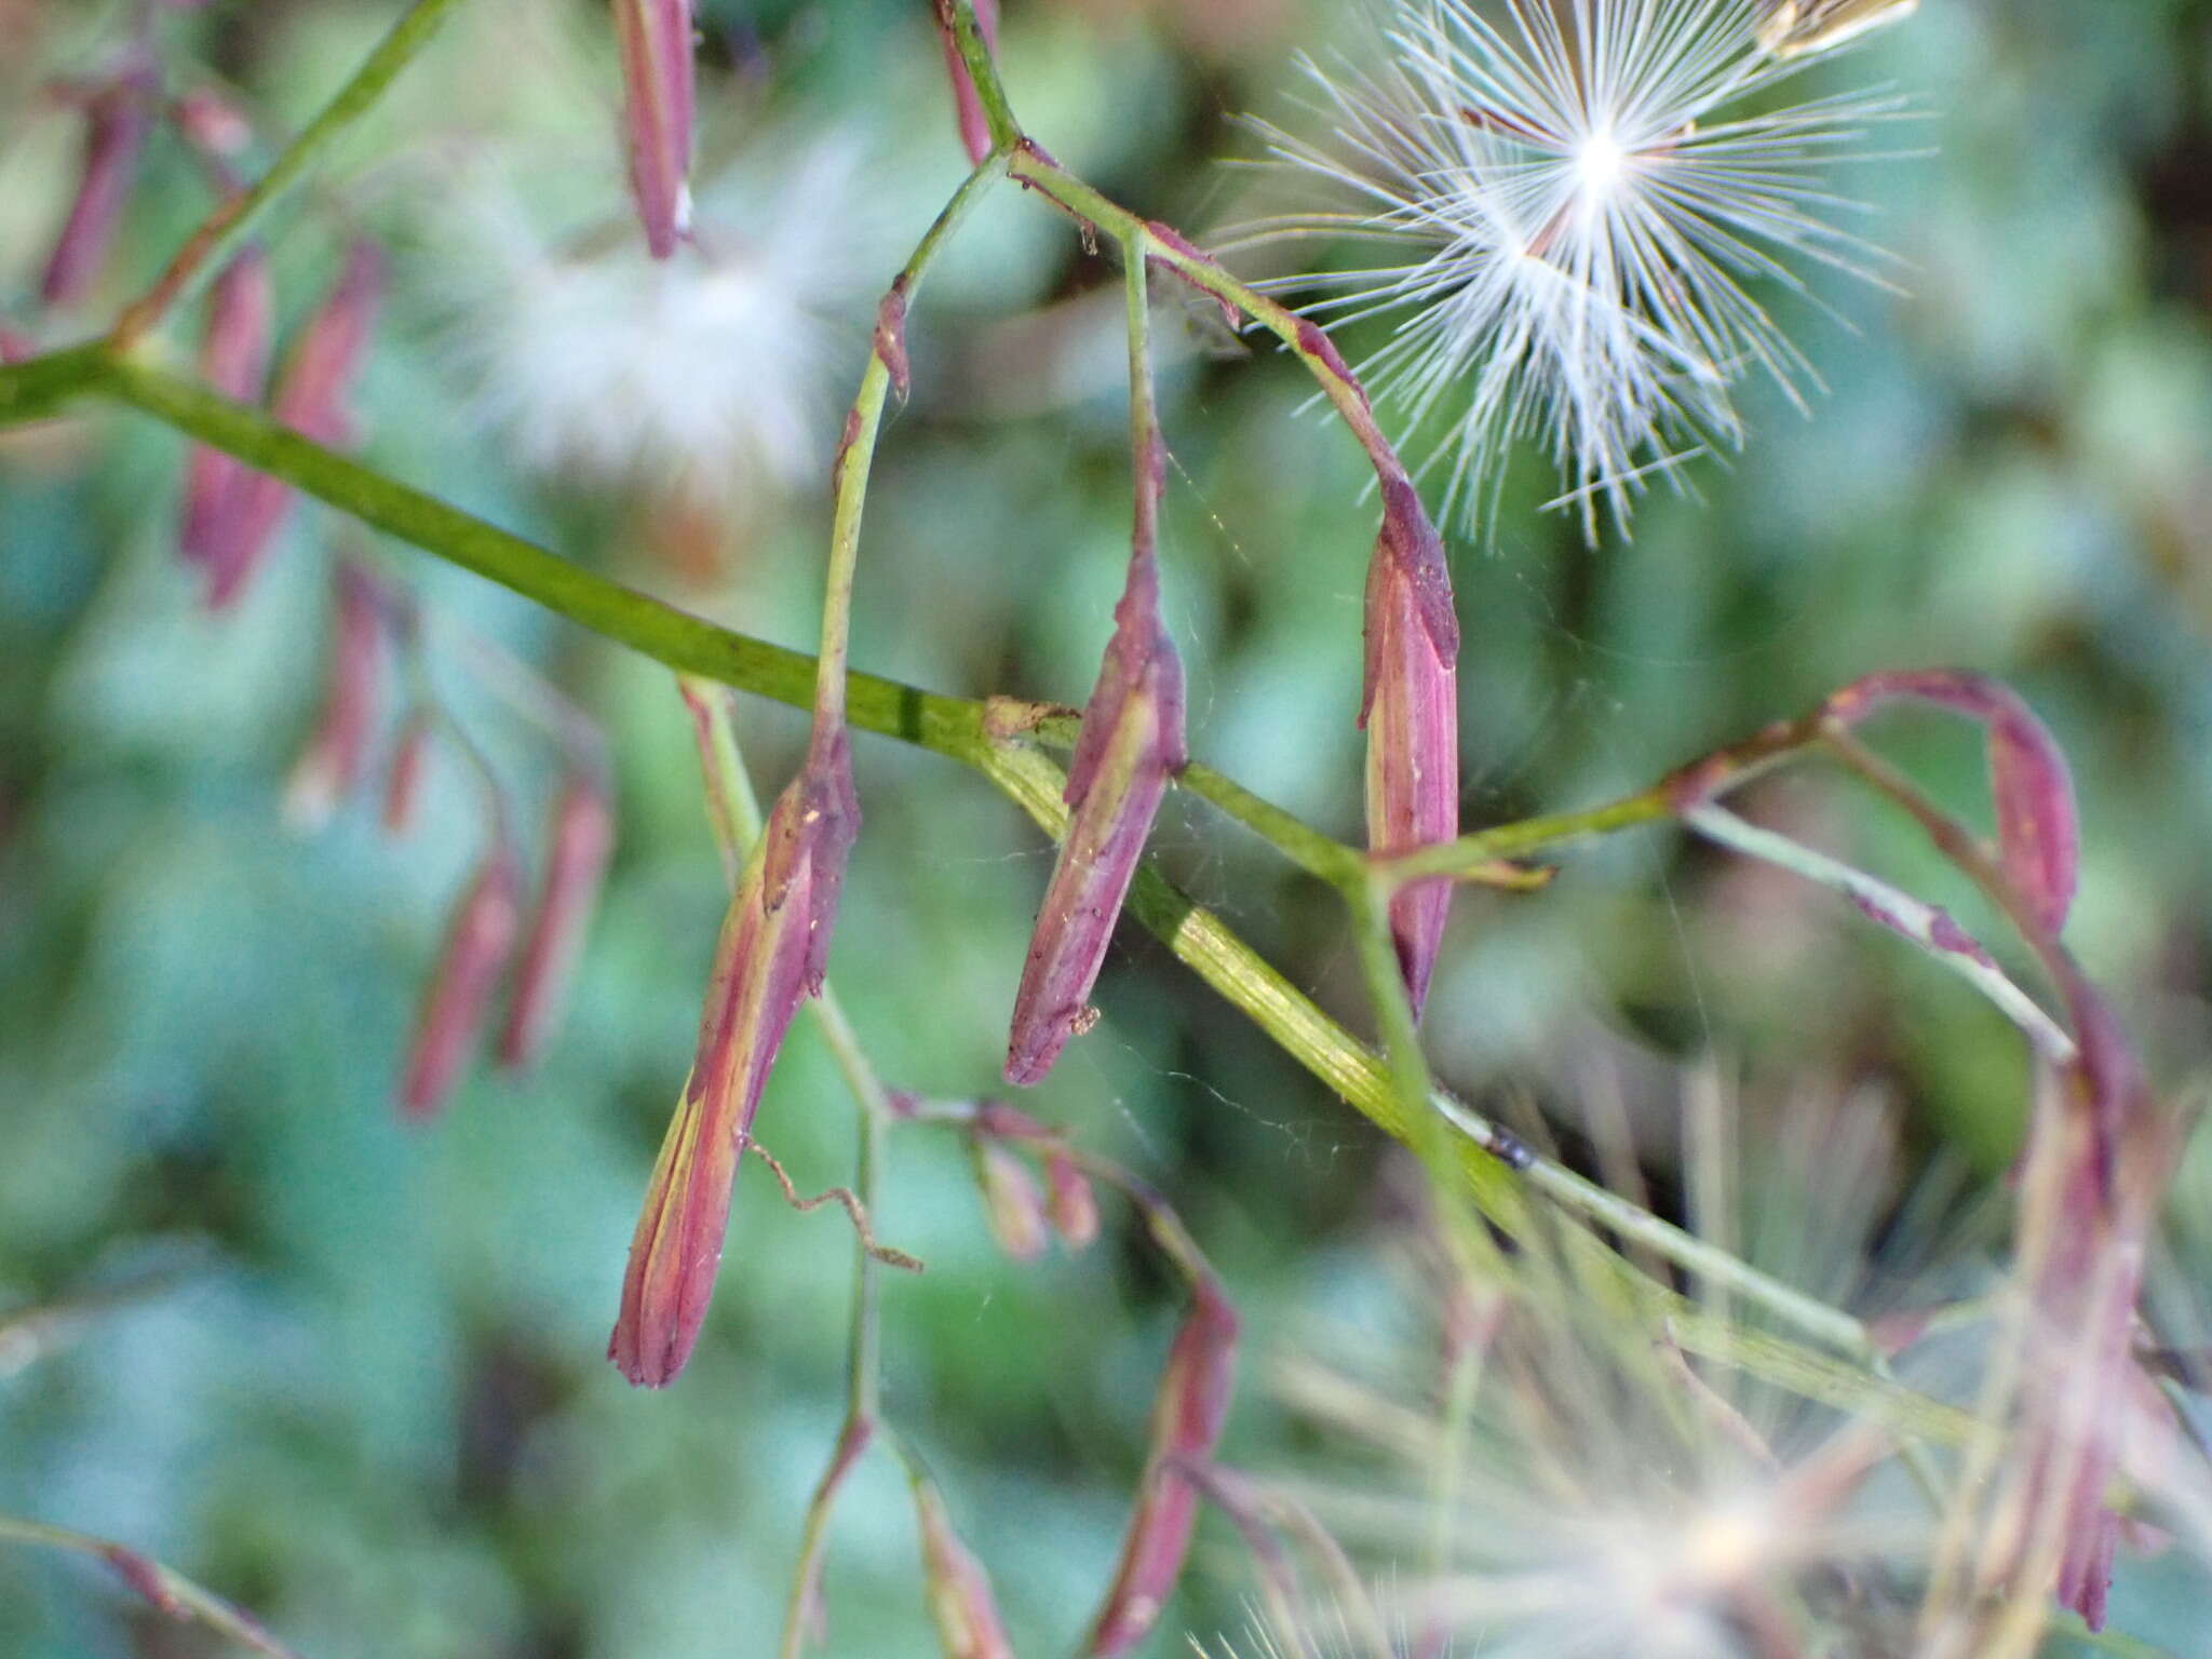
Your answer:
[[[1276,170],[1327,206],[1232,246],[1358,237],[1358,270],[1276,279],[1310,310],[1389,316],[1365,363],[1467,518],[1517,440],[1548,449],[1586,535],[1644,480],[1743,440],[1734,389],[1792,400],[1812,365],[1761,294],[1801,265],[1871,276],[1829,168],[1887,95],[1776,104],[1801,62],[1761,40],[1765,0],[1378,0],[1374,62],[1305,64],[1332,137],[1261,124]]]

